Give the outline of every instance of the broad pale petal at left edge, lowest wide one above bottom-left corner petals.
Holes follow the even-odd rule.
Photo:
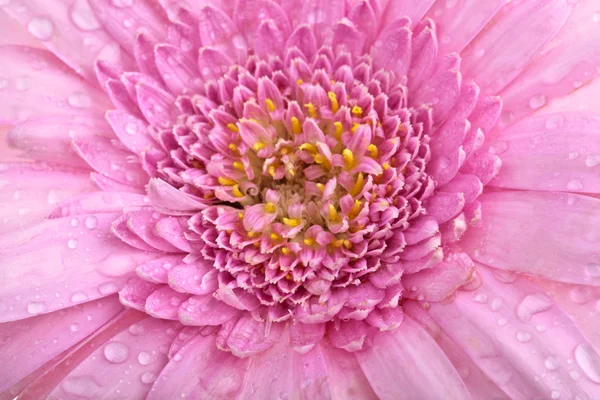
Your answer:
[[[0,237],[2,320],[52,312],[123,287],[135,266],[153,255],[110,234],[117,216],[91,214],[94,224],[86,224],[87,217],[51,219]]]

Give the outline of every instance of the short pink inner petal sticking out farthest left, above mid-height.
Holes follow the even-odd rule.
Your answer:
[[[125,185],[143,187],[148,175],[137,163],[131,163],[128,151],[115,147],[102,136],[75,139],[73,147],[81,158],[104,176]]]

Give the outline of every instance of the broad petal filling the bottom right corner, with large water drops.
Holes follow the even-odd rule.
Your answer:
[[[571,319],[526,278],[477,271],[478,289],[431,304],[442,329],[511,398],[595,395],[600,356]]]

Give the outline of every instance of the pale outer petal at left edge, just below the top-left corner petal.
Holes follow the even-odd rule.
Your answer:
[[[0,74],[7,82],[0,97],[0,123],[51,115],[102,116],[110,105],[104,93],[73,74],[49,51],[2,46],[0,58]]]

